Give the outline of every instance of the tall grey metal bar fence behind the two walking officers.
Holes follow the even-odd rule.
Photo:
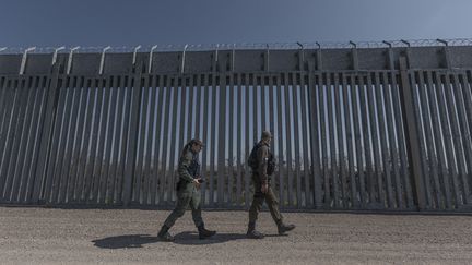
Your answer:
[[[168,207],[198,137],[203,205],[246,208],[270,130],[282,207],[468,210],[471,82],[469,45],[0,53],[0,202]]]

